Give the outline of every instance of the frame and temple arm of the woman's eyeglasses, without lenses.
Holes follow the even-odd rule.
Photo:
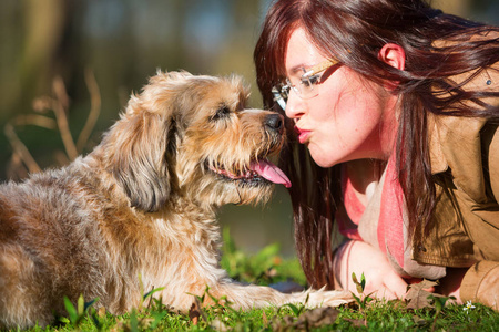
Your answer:
[[[303,84],[303,82],[306,82],[306,81],[308,81],[308,83],[309,83],[310,85],[317,85],[317,84],[320,84],[320,83],[322,83],[320,80],[317,80],[316,82],[313,83],[313,82],[309,81],[309,79],[310,79],[312,76],[314,76],[314,75],[320,73],[320,72],[326,71],[327,69],[332,68],[333,65],[335,65],[335,64],[337,64],[337,63],[339,63],[338,60],[336,60],[336,59],[334,59],[334,58],[329,58],[329,59],[327,59],[327,60],[325,60],[325,61],[323,61],[323,62],[320,62],[320,63],[318,63],[318,64],[312,66],[308,71],[305,71],[305,69],[303,69],[303,70],[305,71],[305,73],[299,77],[299,84]],[[282,86],[278,87],[278,85],[282,85]],[[289,79],[286,79],[286,84],[285,84],[285,85],[283,85],[283,84],[281,83],[281,84],[274,85],[274,86],[272,87],[272,94],[274,95],[274,101],[277,102],[277,104],[278,104],[278,105],[281,106],[281,108],[283,108],[283,110],[286,110],[286,103],[287,103],[287,98],[288,98],[289,90],[291,90],[291,89],[293,89],[293,91],[295,91],[295,93],[296,93],[301,98],[304,98],[304,97],[301,95],[302,92],[298,90],[298,87],[296,87],[296,85],[293,85],[293,84],[291,83]],[[284,91],[284,90],[285,90],[285,91]],[[316,96],[316,95],[314,95],[314,96]],[[314,97],[314,96],[310,96],[310,97]],[[310,98],[310,97],[308,97],[308,98]]]

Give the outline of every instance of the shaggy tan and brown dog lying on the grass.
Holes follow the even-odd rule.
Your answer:
[[[47,325],[63,298],[136,308],[141,288],[186,312],[210,287],[236,309],[348,301],[343,291],[285,294],[220,268],[216,209],[291,186],[269,162],[282,115],[246,108],[236,75],[157,72],[89,155],[0,187],[0,325]],[[141,280],[141,281],[140,281]],[[210,304],[210,299],[204,304]]]

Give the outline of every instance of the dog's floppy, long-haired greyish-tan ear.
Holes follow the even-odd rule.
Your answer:
[[[161,209],[172,190],[174,122],[161,114],[125,114],[106,137],[108,169],[122,185],[131,205]]]

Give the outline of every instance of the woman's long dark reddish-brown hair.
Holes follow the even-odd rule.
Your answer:
[[[465,91],[461,86],[499,61],[499,29],[444,14],[422,0],[277,0],[268,10],[254,53],[266,107],[277,107],[271,90],[286,75],[287,42],[298,27],[324,56],[339,60],[374,82],[397,82],[397,172],[409,230],[416,236],[415,228],[428,222],[436,204],[428,112],[498,118],[498,107],[482,102],[499,96],[498,92]],[[377,52],[386,43],[404,48],[405,70],[378,60]],[[449,79],[461,73],[469,73],[464,82]],[[342,206],[338,165],[327,169],[316,166],[293,135],[281,164],[293,183],[289,194],[298,259],[313,287],[333,288],[333,226]]]

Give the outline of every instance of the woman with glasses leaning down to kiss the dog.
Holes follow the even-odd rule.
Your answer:
[[[295,133],[282,166],[314,287],[364,272],[391,299],[427,278],[498,309],[498,38],[422,0],[273,3],[257,83]]]

